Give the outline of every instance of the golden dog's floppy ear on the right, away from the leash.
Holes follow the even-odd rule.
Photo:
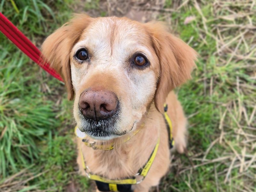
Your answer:
[[[147,23],[147,26],[160,62],[155,106],[163,112],[168,93],[191,78],[197,53],[181,39],[172,36],[161,23]]]

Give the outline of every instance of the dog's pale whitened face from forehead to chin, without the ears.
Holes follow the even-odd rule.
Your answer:
[[[92,22],[70,54],[80,130],[97,139],[132,130],[154,98],[158,65],[150,37],[138,24],[118,18]]]

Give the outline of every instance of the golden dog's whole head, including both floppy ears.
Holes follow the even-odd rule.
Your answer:
[[[190,78],[196,52],[160,23],[78,14],[42,46],[74,102],[79,129],[99,140],[135,129],[152,102]]]

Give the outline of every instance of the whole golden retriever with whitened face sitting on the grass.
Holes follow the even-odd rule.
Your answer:
[[[187,120],[172,90],[191,77],[196,52],[159,22],[85,14],[75,15],[47,37],[42,52],[63,77],[68,99],[74,98],[77,131],[86,136],[77,137],[81,173],[138,181],[131,188],[109,185],[98,191],[146,192],[158,185],[170,166],[164,103],[174,149],[182,153]],[[155,159],[141,178],[137,173],[157,142]],[[104,149],[108,144],[111,150]]]

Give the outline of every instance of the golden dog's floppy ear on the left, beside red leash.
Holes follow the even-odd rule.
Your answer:
[[[92,18],[85,14],[76,14],[72,20],[48,36],[42,45],[43,58],[50,62],[50,66],[64,79],[69,100],[74,98],[70,52],[91,20]]]

